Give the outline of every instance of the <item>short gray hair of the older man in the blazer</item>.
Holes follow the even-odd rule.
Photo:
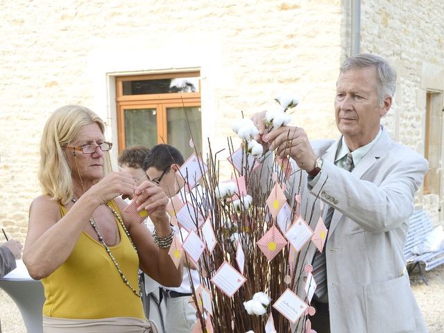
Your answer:
[[[383,58],[370,53],[362,53],[345,60],[340,72],[364,67],[375,67],[376,69],[377,101],[381,106],[387,96],[393,97],[395,94],[396,71]]]

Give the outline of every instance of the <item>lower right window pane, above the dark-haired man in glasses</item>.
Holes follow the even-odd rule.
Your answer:
[[[185,112],[189,121],[185,118]],[[191,108],[167,108],[167,130],[168,130],[168,144],[178,148],[185,160],[194,152],[193,148],[189,146],[189,139],[193,133],[194,145],[198,153],[202,151],[202,125],[200,117],[200,107],[195,106]]]

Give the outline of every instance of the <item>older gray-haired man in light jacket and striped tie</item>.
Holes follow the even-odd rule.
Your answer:
[[[287,184],[297,189],[302,181],[302,216],[311,214],[318,196],[311,228],[320,216],[329,225],[325,257],[310,242],[302,249],[308,251],[305,262],[296,267],[302,280],[305,264],[314,266],[318,288],[311,303],[317,312],[310,319],[318,333],[427,332],[402,250],[414,196],[428,164],[418,153],[395,144],[381,126],[380,119],[391,108],[395,81],[395,71],[384,59],[353,56],[342,65],[336,83],[336,125],[342,134],[338,140],[309,142],[305,130],[289,126],[262,136],[270,151],[289,155],[293,167],[302,170]],[[253,117],[263,133],[262,119],[263,114]],[[303,284],[299,295],[305,294]]]

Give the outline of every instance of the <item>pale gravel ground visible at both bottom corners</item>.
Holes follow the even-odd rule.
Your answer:
[[[426,272],[426,286],[418,274],[412,273],[411,288],[418,300],[430,333],[444,332],[444,265]],[[15,303],[0,289],[0,333],[25,333],[22,316]]]

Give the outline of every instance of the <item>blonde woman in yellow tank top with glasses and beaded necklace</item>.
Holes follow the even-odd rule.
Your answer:
[[[30,275],[41,279],[44,332],[155,332],[146,321],[137,270],[178,286],[182,267],[168,255],[173,231],[168,198],[149,181],[109,172],[110,142],[91,110],[68,105],[49,117],[40,145],[43,194],[33,200],[24,248]],[[155,233],[124,212],[138,196]]]

